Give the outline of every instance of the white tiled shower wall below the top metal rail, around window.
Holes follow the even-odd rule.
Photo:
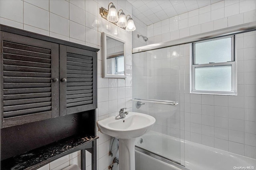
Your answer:
[[[190,94],[189,44],[136,53],[133,96],[179,101],[179,105],[174,109],[146,104],[140,109],[133,106],[134,111],[153,115],[154,131],[256,158],[255,35],[256,31],[236,35],[237,69],[241,73],[238,96]],[[176,66],[178,72],[172,72]],[[173,86],[176,83],[180,83],[180,88]],[[175,93],[180,98],[174,97]],[[178,121],[172,116],[173,111],[179,115]],[[180,129],[180,134],[174,133],[176,129]]]

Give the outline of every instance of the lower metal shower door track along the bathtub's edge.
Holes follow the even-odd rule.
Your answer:
[[[148,156],[152,156],[153,158],[156,158],[158,160],[161,160],[167,164],[170,164],[170,165],[173,165],[173,166],[176,166],[177,168],[180,168],[181,170],[190,170],[188,168],[186,168],[185,166],[183,166],[182,164],[180,164],[179,162],[176,162],[174,160],[171,160],[171,159],[168,159],[168,158],[165,158],[164,156],[161,156],[159,154],[156,154],[154,152],[150,152],[146,149],[143,149],[141,147],[137,147],[135,146],[135,150],[138,150],[139,152],[142,152]]]

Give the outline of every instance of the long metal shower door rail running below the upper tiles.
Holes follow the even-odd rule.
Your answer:
[[[172,47],[175,45],[193,43],[196,41],[202,41],[202,40],[212,39],[212,38],[216,38],[216,37],[223,37],[223,36],[234,35],[234,34],[238,34],[238,33],[246,33],[246,32],[255,31],[255,30],[256,30],[256,21],[253,21],[253,22],[249,22],[249,23],[243,23],[241,25],[235,25],[232,27],[218,29],[215,31],[200,33],[197,35],[190,35],[188,37],[183,37],[183,38],[174,39],[174,40],[170,40],[170,41],[164,41],[161,43],[155,43],[155,44],[150,44],[150,45],[146,45],[146,46],[142,46],[142,47],[137,47],[137,48],[132,49],[132,54],[140,53],[143,51],[162,49],[165,47]]]

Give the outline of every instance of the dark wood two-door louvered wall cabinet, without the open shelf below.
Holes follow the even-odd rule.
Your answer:
[[[1,25],[1,128],[96,109],[97,51]]]

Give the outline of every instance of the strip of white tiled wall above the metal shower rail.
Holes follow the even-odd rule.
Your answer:
[[[213,4],[206,4],[207,6],[202,8],[169,18],[169,28],[166,25],[162,26],[160,24],[162,21],[152,24],[159,25],[157,28],[148,25],[148,44],[178,39],[189,35],[205,33],[255,21],[255,4],[255,0],[222,0]],[[189,29],[185,29],[187,27]],[[169,38],[166,38],[166,35],[168,36],[166,31],[164,33],[158,31],[163,29],[169,29]],[[165,36],[160,36],[164,34]]]

